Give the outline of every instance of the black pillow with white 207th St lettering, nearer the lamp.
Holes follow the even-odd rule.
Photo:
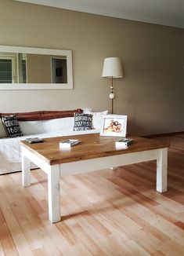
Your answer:
[[[91,114],[74,114],[74,130],[91,130],[92,115]]]

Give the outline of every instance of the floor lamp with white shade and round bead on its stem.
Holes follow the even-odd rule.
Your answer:
[[[121,60],[118,57],[105,58],[103,63],[103,75],[102,77],[107,77],[111,79],[110,84],[110,100],[111,100],[111,113],[114,112],[114,85],[113,79],[118,79],[123,77],[123,71],[121,67]]]

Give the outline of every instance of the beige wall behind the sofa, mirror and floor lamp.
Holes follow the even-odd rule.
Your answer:
[[[114,112],[128,133],[184,130],[183,29],[1,0],[0,44],[72,49],[74,72],[74,90],[0,90],[0,112],[110,109],[103,59],[121,57]]]

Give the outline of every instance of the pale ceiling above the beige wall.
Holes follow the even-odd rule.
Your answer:
[[[184,0],[15,0],[184,28]]]

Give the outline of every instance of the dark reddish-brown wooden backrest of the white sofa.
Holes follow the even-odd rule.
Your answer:
[[[63,117],[72,117],[74,113],[82,113],[82,109],[65,110],[65,111],[36,111],[36,112],[19,112],[19,113],[0,113],[2,115],[16,115],[18,121],[36,121],[60,119]]]

